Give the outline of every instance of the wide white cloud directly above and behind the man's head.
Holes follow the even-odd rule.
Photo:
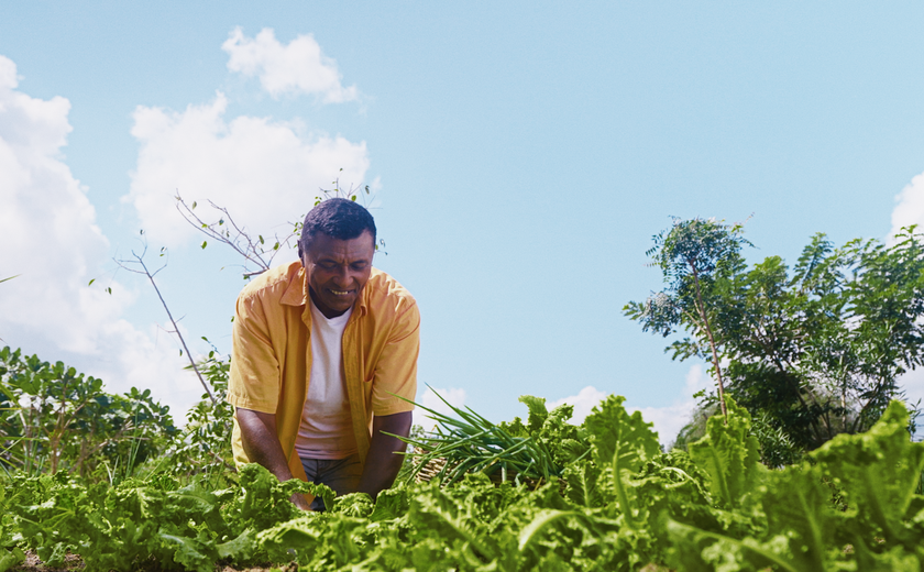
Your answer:
[[[141,144],[129,195],[145,233],[175,246],[196,234],[177,213],[174,196],[226,207],[251,233],[286,233],[314,205],[319,189],[359,184],[369,168],[365,142],[302,136],[297,124],[241,116],[224,120],[218,94],[184,112],[140,106],[132,135]],[[340,169],[343,169],[342,172]]]

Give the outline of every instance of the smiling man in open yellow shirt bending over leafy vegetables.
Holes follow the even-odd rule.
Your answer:
[[[234,315],[228,400],[238,464],[279,481],[373,498],[395,481],[417,392],[420,316],[410,294],[372,267],[375,222],[329,199],[305,218],[299,261],[249,284]],[[307,498],[306,498],[307,496]],[[295,495],[302,509],[320,498]]]

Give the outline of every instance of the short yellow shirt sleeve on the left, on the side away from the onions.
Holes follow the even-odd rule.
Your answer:
[[[282,383],[279,362],[260,297],[238,298],[231,348],[228,402],[234,407],[275,414]]]

